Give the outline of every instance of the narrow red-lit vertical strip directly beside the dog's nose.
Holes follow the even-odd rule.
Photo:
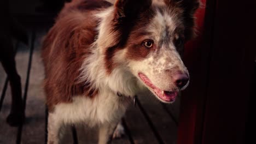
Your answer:
[[[190,84],[182,93],[181,98],[178,128],[179,144],[197,144],[201,140],[201,135],[199,135],[202,129],[201,116],[203,109],[203,91],[201,91],[203,86],[201,86],[201,83],[203,83],[203,77],[206,75],[206,69],[201,70],[205,2],[206,0],[202,0],[202,7],[196,11],[197,37],[192,41],[188,41],[185,45],[184,62],[190,73]]]

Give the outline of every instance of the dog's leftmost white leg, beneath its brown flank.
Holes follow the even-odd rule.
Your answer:
[[[55,113],[49,113],[48,116],[48,139],[47,144],[59,144],[61,139],[61,119]]]

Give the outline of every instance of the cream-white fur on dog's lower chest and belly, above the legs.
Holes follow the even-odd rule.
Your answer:
[[[118,97],[110,91],[100,92],[95,98],[77,96],[72,103],[57,104],[54,117],[60,123],[84,123],[94,127],[105,122],[118,121],[130,102],[130,97]]]

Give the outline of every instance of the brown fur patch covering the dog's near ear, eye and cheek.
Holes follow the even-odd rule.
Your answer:
[[[118,10],[116,13],[119,13]],[[105,61],[108,74],[110,74],[117,65],[113,61],[115,52],[125,49],[125,47],[130,47],[128,50],[129,54],[127,55],[128,58],[141,59],[141,57],[143,58],[148,55],[149,50],[141,45],[144,39],[139,38],[142,38],[141,36],[147,33],[144,31],[143,27],[149,24],[148,21],[154,17],[154,14],[153,9],[148,8],[147,10],[140,11],[137,15],[127,16],[126,14],[127,17],[119,17],[119,19],[115,18],[113,20],[112,25],[114,31],[118,31],[119,35],[116,38],[118,44],[106,49]],[[117,14],[116,16],[119,15]]]

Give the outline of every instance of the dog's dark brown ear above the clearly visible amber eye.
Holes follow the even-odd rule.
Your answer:
[[[117,0],[115,2],[115,19],[131,19],[136,17],[141,11],[147,10],[152,4],[152,0]]]

